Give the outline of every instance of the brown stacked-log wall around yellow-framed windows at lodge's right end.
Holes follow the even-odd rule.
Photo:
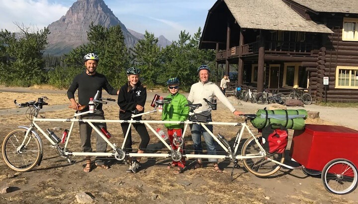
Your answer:
[[[357,89],[335,88],[337,66],[358,67],[358,42],[342,40],[343,16],[336,14],[321,17],[327,19],[327,27],[335,33],[322,35],[321,49],[312,51],[312,55],[317,55],[317,63],[305,64],[306,70],[310,72],[309,91],[312,97],[321,101],[327,94],[327,101],[358,102]],[[329,77],[327,91],[323,85],[324,76]]]

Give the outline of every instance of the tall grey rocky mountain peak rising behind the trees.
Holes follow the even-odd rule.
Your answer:
[[[133,47],[138,41],[131,35],[123,23],[113,14],[103,0],[77,0],[67,11],[66,15],[51,23],[48,28],[48,53],[61,55],[72,49],[88,43],[87,31],[89,25],[103,25],[109,28],[120,25],[125,37],[125,44]]]

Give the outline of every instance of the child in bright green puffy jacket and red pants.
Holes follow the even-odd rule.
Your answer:
[[[170,78],[167,81],[169,92],[171,93],[166,98],[171,98],[169,104],[164,104],[163,106],[163,114],[162,120],[163,121],[185,121],[189,114],[189,107],[185,106],[188,104],[186,97],[179,93],[179,79]],[[172,148],[174,150],[178,149],[178,146],[173,144],[174,136],[181,138],[182,130],[184,128],[183,124],[171,124],[166,123],[166,128],[168,128],[168,137]],[[183,154],[184,143],[181,146],[180,152]],[[177,169],[174,171],[175,174],[182,173],[185,167],[185,159],[182,158],[180,161],[173,161],[172,164],[168,165],[168,169],[174,168],[177,166]]]

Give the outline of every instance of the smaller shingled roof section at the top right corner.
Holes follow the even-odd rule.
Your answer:
[[[358,0],[291,0],[316,12],[358,13]]]

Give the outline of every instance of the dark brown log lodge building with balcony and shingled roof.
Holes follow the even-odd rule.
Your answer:
[[[199,48],[216,49],[226,73],[238,65],[238,84],[258,91],[358,102],[358,0],[217,0]]]

